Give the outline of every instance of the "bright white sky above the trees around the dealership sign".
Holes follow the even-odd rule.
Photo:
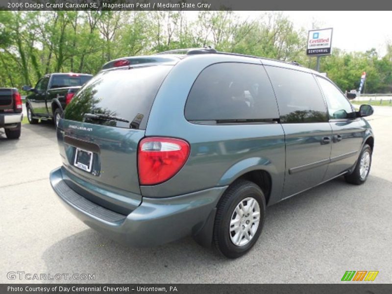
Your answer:
[[[238,11],[241,17],[257,18],[260,11]],[[332,49],[366,51],[375,48],[383,56],[386,43],[392,43],[391,11],[284,11],[296,28],[333,27]]]

